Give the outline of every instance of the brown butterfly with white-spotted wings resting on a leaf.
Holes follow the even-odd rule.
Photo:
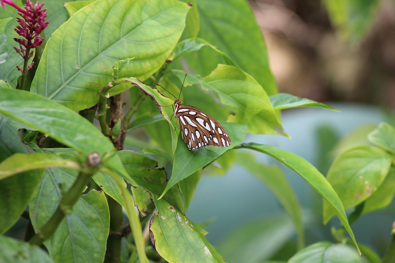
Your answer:
[[[187,74],[185,74],[184,82],[186,75]],[[184,86],[184,82],[182,83],[181,90]],[[160,86],[159,84],[157,85]],[[165,88],[163,89],[166,90]],[[169,94],[171,93],[169,92]],[[173,115],[177,118],[180,125],[181,137],[189,150],[193,151],[207,145],[219,147],[228,147],[230,145],[230,137],[218,121],[196,107],[182,105],[179,98],[177,99],[173,94],[171,94],[171,96],[176,99],[174,104],[172,104],[174,109]],[[163,107],[168,106],[171,105]]]

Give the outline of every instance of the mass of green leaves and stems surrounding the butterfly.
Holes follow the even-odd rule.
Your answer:
[[[374,146],[340,154],[325,178],[292,152],[243,143],[247,133],[289,137],[280,122],[281,109],[335,110],[277,94],[265,43],[246,1],[96,0],[67,2],[66,8],[63,2],[45,6],[47,42],[40,47],[42,54],[40,49],[35,53],[32,75],[24,77],[29,92],[21,90],[16,66],[24,61],[13,50],[17,10],[6,6],[0,12],[3,261],[119,262],[126,255],[122,258],[128,262],[224,262],[207,232],[186,215],[202,170],[216,160],[225,171],[241,162],[275,193],[290,218],[258,222],[263,236],[254,227],[243,229],[224,245],[228,250],[239,249],[239,237],[246,240],[245,248],[254,244],[256,250],[273,237],[288,241],[295,227],[303,249],[293,251],[290,262],[327,254],[335,261],[340,254],[340,259],[360,259],[349,221],[392,199],[393,127],[381,124],[373,131],[369,140]],[[173,100],[156,84],[179,94],[187,71],[181,100],[196,102],[218,119],[231,137],[229,147],[185,147],[167,107]],[[122,94],[130,101],[125,114]],[[144,154],[124,146],[144,148]],[[324,199],[324,223],[339,217],[343,226],[334,231],[339,244],[305,247],[301,205],[292,187],[278,167],[258,163],[240,149],[267,154],[306,180]],[[369,165],[356,165],[361,161]],[[168,181],[166,171],[171,171]],[[361,204],[359,214],[347,218],[345,209]],[[129,225],[122,224],[122,209]],[[24,241],[6,237],[21,217],[29,221]],[[260,242],[248,243],[248,233]],[[344,240],[348,244],[340,244]],[[262,260],[278,249],[269,248],[251,251],[251,258]],[[365,251],[374,262],[374,253]]]

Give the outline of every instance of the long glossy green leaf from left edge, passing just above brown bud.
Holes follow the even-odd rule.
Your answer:
[[[98,152],[103,156],[115,152],[109,138],[78,113],[23,90],[2,89],[0,92],[0,113],[49,134],[56,141],[79,150],[83,155]],[[128,176],[117,155],[108,160],[107,164]]]

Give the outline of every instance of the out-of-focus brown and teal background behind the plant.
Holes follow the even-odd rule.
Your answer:
[[[367,134],[378,123],[394,125],[395,1],[248,2],[262,29],[279,92],[324,102],[341,112],[317,108],[284,110],[282,124],[292,139],[248,135],[246,142],[293,152],[326,175],[342,150],[368,143]],[[256,154],[256,159],[280,165],[263,154]],[[307,244],[335,242],[331,227],[338,228],[339,220],[333,218],[323,225],[322,197],[299,175],[280,167],[303,207]],[[258,178],[242,165],[233,166],[220,177],[206,170],[187,216],[207,224],[207,239],[227,262],[284,260],[294,253],[289,249],[295,248],[296,240],[292,224],[276,197]],[[351,226],[357,241],[380,256],[391,238],[394,208],[392,203],[365,214]],[[236,240],[243,241],[237,250]]]

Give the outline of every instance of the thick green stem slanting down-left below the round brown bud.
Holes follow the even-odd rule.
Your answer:
[[[52,217],[37,231],[36,235],[29,240],[31,245],[40,246],[45,240],[49,239],[55,233],[62,219],[70,214],[71,209],[81,196],[85,186],[89,182],[93,173],[80,172],[77,179],[71,188],[60,199],[59,205],[56,208]]]

